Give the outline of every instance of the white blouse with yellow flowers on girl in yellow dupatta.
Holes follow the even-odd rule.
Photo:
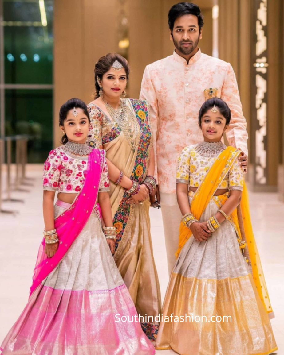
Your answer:
[[[210,143],[212,144],[212,143]],[[177,160],[176,183],[189,184],[198,187],[204,180],[210,166],[215,162],[220,152],[213,157],[200,154],[198,144],[193,144],[183,149]],[[225,146],[224,146],[225,147]],[[232,164],[230,171],[219,185],[218,189],[240,190],[243,189],[243,171],[238,159]]]

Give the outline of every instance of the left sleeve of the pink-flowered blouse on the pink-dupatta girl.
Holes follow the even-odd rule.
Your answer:
[[[55,150],[50,151],[44,163],[43,190],[56,191],[62,165]]]

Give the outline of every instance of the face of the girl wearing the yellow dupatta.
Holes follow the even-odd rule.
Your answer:
[[[219,142],[223,133],[227,129],[226,119],[216,107],[217,112],[212,112],[209,109],[202,116],[201,130],[205,142]]]

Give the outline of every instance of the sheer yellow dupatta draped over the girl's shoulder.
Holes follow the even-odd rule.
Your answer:
[[[200,184],[197,191],[195,192],[191,202],[190,209],[196,219],[200,219],[209,201],[214,196],[215,191],[218,189],[220,183],[223,181],[235,159],[239,156],[240,153],[241,151],[237,150],[234,147],[227,147],[216,158],[215,162],[213,163],[207,175],[205,176],[203,182]],[[221,205],[223,205],[226,202],[227,197],[221,195],[218,196],[218,200],[219,202],[221,202]],[[219,206],[219,208],[220,207],[221,206]],[[230,215],[230,222],[233,222],[232,224],[236,228],[236,233],[239,239],[242,241],[246,241],[246,244],[243,244],[242,247],[247,247],[250,259],[248,261],[251,263],[254,283],[256,285],[259,297],[266,311],[268,313],[271,313],[273,312],[273,310],[270,304],[256,242],[254,240],[248,204],[248,193],[245,184],[243,186],[242,191],[240,211],[241,216],[240,213],[238,215],[237,208],[235,209],[235,211],[232,212],[232,214]],[[241,220],[239,220],[239,218],[241,218]],[[242,227],[241,229],[240,226]],[[191,230],[181,222],[179,226],[179,246],[178,250],[175,253],[176,257],[178,257],[179,253],[182,250],[182,247],[189,239],[189,237],[191,237],[191,235]]]

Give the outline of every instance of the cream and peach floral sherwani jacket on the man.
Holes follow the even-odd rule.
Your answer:
[[[227,139],[247,154],[246,120],[230,63],[199,49],[188,64],[174,51],[173,55],[146,66],[140,99],[146,99],[150,105],[155,175],[161,192],[176,192],[178,155],[184,147],[203,141],[198,113],[211,97],[220,97],[229,105],[232,118]]]

